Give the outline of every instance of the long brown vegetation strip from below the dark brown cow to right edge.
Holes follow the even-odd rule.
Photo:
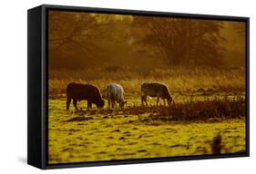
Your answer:
[[[170,106],[128,106],[122,110],[92,110],[89,115],[106,114],[138,115],[138,121],[145,124],[166,124],[169,122],[206,121],[218,122],[245,118],[245,100],[242,97],[228,100],[215,98],[207,101],[173,103]],[[136,122],[133,122],[136,124]]]

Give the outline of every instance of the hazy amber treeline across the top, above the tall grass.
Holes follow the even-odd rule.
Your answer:
[[[244,65],[239,22],[52,11],[48,25],[54,69]]]

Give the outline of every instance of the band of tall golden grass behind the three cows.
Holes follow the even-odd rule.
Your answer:
[[[134,72],[132,72],[134,71]],[[243,69],[154,69],[146,73],[138,73],[132,69],[121,69],[117,72],[105,69],[71,71],[50,71],[49,95],[66,93],[69,82],[91,83],[101,92],[109,82],[123,86],[125,92],[140,92],[142,82],[163,82],[169,86],[170,92],[244,92],[245,73]]]

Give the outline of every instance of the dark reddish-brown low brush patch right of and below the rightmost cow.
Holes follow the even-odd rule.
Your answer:
[[[133,110],[132,108],[130,109]],[[146,109],[147,110],[147,109]],[[245,100],[190,101],[180,102],[170,107],[152,107],[148,117],[141,121],[223,121],[243,119],[245,116]],[[136,110],[135,110],[136,111]],[[139,110],[138,110],[139,111]],[[141,111],[141,110],[140,110]]]

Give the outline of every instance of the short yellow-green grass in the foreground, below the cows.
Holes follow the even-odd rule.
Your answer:
[[[128,106],[124,110],[76,112],[65,111],[65,104],[64,98],[49,101],[51,164],[212,154],[213,139],[218,134],[220,153],[245,150],[245,121],[239,114],[244,113],[244,106],[235,110],[237,117],[230,109],[226,117],[212,115],[207,120],[195,117],[184,121],[182,115],[177,120],[175,115],[162,113],[169,110],[164,106],[160,110]]]

